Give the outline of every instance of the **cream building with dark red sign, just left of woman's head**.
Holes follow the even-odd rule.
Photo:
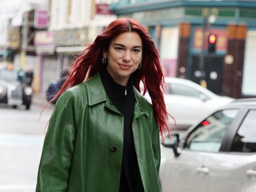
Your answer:
[[[116,15],[109,11],[113,2],[93,0],[52,0],[49,31],[53,32],[60,70],[68,68]]]

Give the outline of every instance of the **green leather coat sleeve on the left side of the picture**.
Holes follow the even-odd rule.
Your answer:
[[[43,144],[36,192],[66,191],[75,140],[74,96],[67,90],[58,99]]]

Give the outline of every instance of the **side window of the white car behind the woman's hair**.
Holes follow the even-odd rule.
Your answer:
[[[187,85],[181,85],[178,83],[168,83],[168,94],[201,98],[203,93]],[[208,97],[205,95],[205,98]]]

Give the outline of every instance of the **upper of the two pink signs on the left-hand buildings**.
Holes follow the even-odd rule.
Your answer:
[[[48,10],[35,10],[34,27],[35,28],[48,28],[49,13]]]

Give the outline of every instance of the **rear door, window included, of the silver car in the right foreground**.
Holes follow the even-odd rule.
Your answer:
[[[239,128],[230,131],[231,148],[205,159],[209,192],[256,191],[256,109],[245,112]],[[233,133],[232,133],[233,131]]]

